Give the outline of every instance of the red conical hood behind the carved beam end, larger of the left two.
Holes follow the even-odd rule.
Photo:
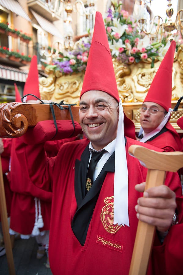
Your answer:
[[[31,59],[30,69],[28,73],[27,80],[24,86],[24,93],[26,94],[34,94],[38,98],[40,98],[39,94],[39,78],[38,78],[38,67],[37,67],[37,56],[34,55]],[[27,100],[36,100],[35,97],[27,96]]]

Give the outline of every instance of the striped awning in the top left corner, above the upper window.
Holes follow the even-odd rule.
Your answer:
[[[0,0],[0,5],[2,5],[6,9],[9,9],[11,12],[16,13],[17,15],[23,17],[27,21],[31,22],[31,19],[29,18],[28,14],[25,12],[25,10],[22,8],[22,6],[18,1]]]

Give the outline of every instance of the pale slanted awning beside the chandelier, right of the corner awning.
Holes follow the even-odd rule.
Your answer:
[[[55,25],[52,22],[48,21],[47,19],[45,19],[44,17],[42,17],[32,9],[31,9],[31,13],[33,14],[36,21],[44,31],[63,39],[63,36],[61,35],[60,31],[55,27]]]

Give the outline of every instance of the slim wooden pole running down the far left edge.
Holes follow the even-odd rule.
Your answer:
[[[5,200],[5,189],[4,189],[3,174],[2,174],[1,156],[0,156],[0,214],[1,214],[2,232],[3,232],[4,242],[5,242],[6,258],[8,262],[9,274],[15,275],[12,245],[11,245],[11,240],[9,235],[8,215],[7,215],[6,200]]]

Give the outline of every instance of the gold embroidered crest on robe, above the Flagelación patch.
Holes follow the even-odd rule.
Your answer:
[[[113,224],[113,221],[114,221],[114,196],[105,198],[104,203],[106,205],[102,208],[101,221],[103,223],[105,230],[109,233],[114,234],[122,227],[122,225],[119,226],[117,223]]]

